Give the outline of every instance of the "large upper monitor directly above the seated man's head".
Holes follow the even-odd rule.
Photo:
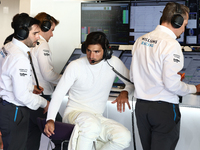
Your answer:
[[[104,32],[110,44],[128,44],[129,2],[82,2],[81,43],[93,31]]]

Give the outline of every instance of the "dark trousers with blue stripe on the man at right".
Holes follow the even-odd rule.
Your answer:
[[[135,113],[143,150],[175,149],[180,133],[178,104],[138,99]]]

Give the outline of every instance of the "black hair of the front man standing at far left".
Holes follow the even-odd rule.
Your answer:
[[[39,23],[39,20],[30,17],[27,13],[16,14],[11,23],[11,27],[14,29],[14,37],[19,39],[16,34],[21,28],[27,28],[30,31],[32,25],[39,25]]]

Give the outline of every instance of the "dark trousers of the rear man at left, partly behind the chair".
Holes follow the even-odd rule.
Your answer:
[[[50,95],[43,95],[45,99],[51,99]],[[47,113],[43,113],[44,109],[39,108],[37,110],[30,110],[30,119],[29,119],[29,132],[28,132],[28,140],[27,140],[27,150],[38,150],[40,147],[40,140],[41,140],[41,131],[37,124],[37,118],[46,118]],[[62,122],[62,117],[58,113],[56,116],[56,121]],[[59,149],[61,141],[53,141],[55,146]]]

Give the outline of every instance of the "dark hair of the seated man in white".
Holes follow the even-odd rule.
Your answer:
[[[100,44],[104,50],[109,47],[109,41],[106,34],[100,31],[89,33],[84,43],[86,48],[91,44]]]

